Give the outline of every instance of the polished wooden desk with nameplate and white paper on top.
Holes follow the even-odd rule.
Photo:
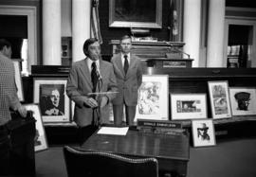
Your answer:
[[[94,133],[83,145],[84,150],[100,150],[130,157],[155,157],[159,173],[186,176],[190,156],[189,135],[138,133],[125,136]]]

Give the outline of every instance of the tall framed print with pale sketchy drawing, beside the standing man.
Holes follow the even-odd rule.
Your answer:
[[[143,75],[138,89],[137,118],[168,120],[169,76]]]

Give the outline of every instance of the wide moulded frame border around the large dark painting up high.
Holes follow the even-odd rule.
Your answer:
[[[116,0],[109,0],[109,27],[162,28],[162,0],[155,0],[155,22],[128,22],[115,18]]]

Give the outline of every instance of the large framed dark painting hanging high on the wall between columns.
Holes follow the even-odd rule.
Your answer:
[[[162,0],[110,0],[109,27],[162,27]]]

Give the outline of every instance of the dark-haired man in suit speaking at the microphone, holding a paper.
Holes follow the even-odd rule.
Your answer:
[[[101,46],[98,40],[86,40],[83,52],[86,58],[73,63],[66,84],[66,94],[75,102],[74,120],[79,126],[81,144],[101,123],[108,121],[107,104],[115,97],[115,94],[111,93],[117,92],[113,65],[101,60]],[[90,95],[103,92],[107,94]]]

